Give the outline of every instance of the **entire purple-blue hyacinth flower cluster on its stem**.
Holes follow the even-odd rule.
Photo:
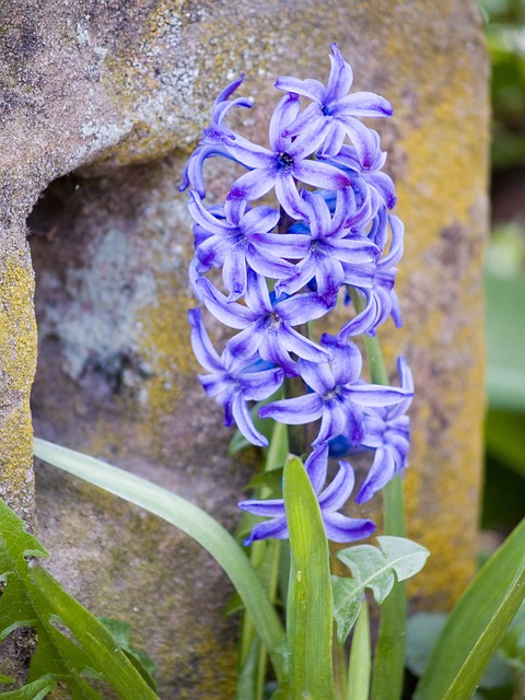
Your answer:
[[[394,282],[404,228],[392,213],[396,197],[381,170],[386,154],[380,137],[360,120],[388,117],[392,107],[374,93],[349,94],[352,70],[336,44],[331,54],[327,86],[312,79],[277,80],[285,95],[270,119],[269,148],[225,125],[232,108],[252,107],[233,97],[243,75],[231,83],[214,104],[180,189],[191,186],[195,294],[210,314],[238,331],[219,354],[200,311],[189,312],[194,352],[207,372],[200,382],[222,405],[224,423],[236,424],[250,443],[265,446],[250,402],[269,399],[289,380],[302,380],[302,395],[266,402],[259,417],[318,424],[305,467],[327,536],[341,542],[369,536],[374,525],[338,512],[351,495],[354,475],[341,460],[325,487],[329,453],[375,451],[355,501],[372,498],[407,465],[406,410],[413,386],[402,358],[399,387],[365,382],[361,352],[350,340],[374,335],[390,316],[397,326],[401,323]],[[210,158],[244,168],[225,200],[211,206],[205,203],[203,177]],[[351,306],[350,291],[361,301],[359,310]],[[312,322],[335,308],[341,295],[349,305],[348,322],[337,337],[315,338]],[[246,544],[288,536],[282,500],[248,500],[240,506],[270,518],[254,527]]]

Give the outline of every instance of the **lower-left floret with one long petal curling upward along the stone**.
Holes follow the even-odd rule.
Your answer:
[[[260,401],[271,396],[282,384],[280,368],[268,368],[257,362],[240,360],[228,350],[219,357],[210,342],[202,324],[200,311],[188,312],[191,324],[191,347],[195,357],[209,374],[200,374],[199,381],[208,396],[213,397],[224,408],[224,424],[235,422],[243,435],[254,445],[265,446],[268,440],[255,428],[246,401]]]

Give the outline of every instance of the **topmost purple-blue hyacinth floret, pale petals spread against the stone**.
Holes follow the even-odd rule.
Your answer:
[[[319,153],[322,158],[336,155],[348,135],[355,147],[361,161],[370,165],[375,158],[375,140],[372,131],[355,117],[389,117],[392,105],[384,97],[371,92],[357,92],[349,95],[353,73],[345,61],[337,44],[331,45],[330,75],[325,88],[318,80],[299,80],[279,78],[276,88],[288,90],[312,100],[310,104],[288,127],[283,137],[296,136],[304,130],[317,131],[328,127],[325,144]]]

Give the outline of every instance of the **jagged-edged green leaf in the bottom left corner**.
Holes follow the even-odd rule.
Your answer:
[[[73,700],[100,700],[102,696],[83,677],[89,674],[109,682],[126,700],[155,700],[155,693],[109,632],[35,559],[28,560],[30,556],[46,553],[25,532],[23,521],[0,501],[0,575],[7,582],[0,599],[0,637],[4,639],[18,627],[35,628],[37,645],[30,665],[30,685],[43,677],[47,681],[59,679]],[[78,644],[55,627],[57,621],[69,629]]]

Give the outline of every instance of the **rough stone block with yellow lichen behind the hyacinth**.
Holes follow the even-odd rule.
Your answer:
[[[243,129],[260,138],[275,78],[325,79],[337,40],[355,88],[395,106],[374,126],[407,229],[405,327],[384,335],[392,366],[404,351],[418,385],[409,529],[432,551],[418,604],[450,606],[474,569],[481,459],[488,68],[476,2],[0,0],[0,18],[2,495],[31,521],[33,209],[37,433],[233,526],[248,467],[226,459],[228,431],[195,378],[176,186],[226,81],[246,71],[257,107]],[[225,177],[212,164],[210,176]],[[162,697],[230,697],[230,590],[209,557],[49,468],[36,502],[54,572],[95,612],[132,622]]]

